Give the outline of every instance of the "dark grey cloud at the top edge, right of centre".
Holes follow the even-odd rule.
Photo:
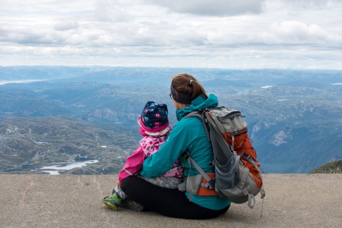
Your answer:
[[[147,0],[177,13],[200,16],[235,16],[260,14],[265,0]]]

